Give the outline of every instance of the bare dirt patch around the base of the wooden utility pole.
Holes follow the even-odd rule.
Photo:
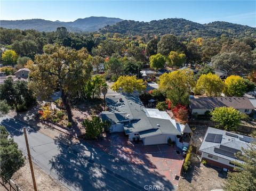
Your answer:
[[[37,190],[44,190],[44,191],[68,190],[64,186],[62,186],[57,180],[47,175],[43,170],[37,167],[37,165],[33,164],[33,168],[34,168],[35,177],[36,177]],[[26,161],[26,165],[24,167],[22,167],[20,170],[14,173],[12,180],[24,191],[34,190],[28,160]],[[6,187],[9,188],[9,186],[6,186]],[[3,188],[3,190],[5,190],[5,188]]]

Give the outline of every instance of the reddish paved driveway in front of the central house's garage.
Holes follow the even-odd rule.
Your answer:
[[[181,150],[176,146],[167,144],[144,146],[141,142],[130,142],[123,132],[107,134],[102,140],[90,143],[138,168],[156,172],[178,186],[179,181],[175,176],[180,176],[184,158]]]

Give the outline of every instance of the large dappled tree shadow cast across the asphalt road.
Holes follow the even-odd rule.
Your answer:
[[[177,189],[159,173],[137,168],[85,141],[72,142],[70,137],[62,135],[55,143],[60,152],[50,164],[78,190],[144,190],[145,185]]]

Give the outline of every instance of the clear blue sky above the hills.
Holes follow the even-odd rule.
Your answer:
[[[150,21],[184,18],[208,23],[227,21],[256,27],[256,1],[2,1],[1,20],[74,21],[108,16]]]

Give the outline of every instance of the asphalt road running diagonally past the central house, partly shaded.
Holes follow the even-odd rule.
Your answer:
[[[145,185],[176,189],[154,172],[138,169],[85,142],[63,144],[64,137],[54,140],[10,117],[0,118],[0,122],[26,155],[23,127],[27,127],[33,162],[70,190],[144,190]]]

